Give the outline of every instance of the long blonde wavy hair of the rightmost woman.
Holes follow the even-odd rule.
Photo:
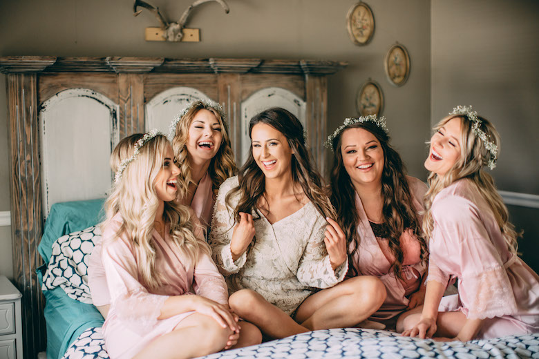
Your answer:
[[[423,220],[423,231],[428,240],[431,237],[434,227],[434,219],[432,214],[433,201],[439,191],[446,188],[453,182],[459,179],[469,179],[475,186],[477,192],[484,198],[486,203],[492,209],[495,220],[500,226],[504,239],[509,246],[509,250],[514,254],[517,251],[517,237],[515,226],[509,222],[509,211],[505,206],[502,197],[498,193],[494,184],[494,179],[491,175],[483,171],[483,167],[488,164],[491,159],[491,153],[486,149],[482,139],[475,135],[472,130],[472,123],[466,115],[449,115],[438,122],[433,128],[437,131],[447,124],[451,119],[460,119],[460,158],[455,162],[452,168],[447,173],[440,177],[436,173],[431,172],[428,175],[428,191],[425,194],[425,217]],[[481,120],[480,130],[484,131],[491,142],[498,146],[500,153],[500,134],[494,126],[484,117],[478,117]]]

